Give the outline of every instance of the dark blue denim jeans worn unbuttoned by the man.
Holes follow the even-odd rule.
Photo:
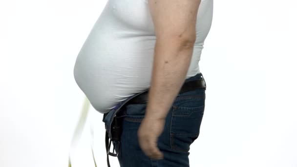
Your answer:
[[[187,79],[204,80],[201,73]],[[158,148],[164,159],[150,159],[141,150],[137,130],[146,111],[147,104],[128,104],[123,118],[121,145],[114,143],[119,152],[121,167],[190,167],[190,145],[198,138],[204,113],[206,88],[178,94],[170,107],[164,131],[158,139]]]

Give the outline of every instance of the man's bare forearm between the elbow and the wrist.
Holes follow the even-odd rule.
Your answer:
[[[170,44],[168,44],[170,43]],[[188,72],[193,43],[156,42],[146,117],[166,118]]]

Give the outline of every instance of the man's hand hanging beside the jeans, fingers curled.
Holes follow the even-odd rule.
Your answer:
[[[145,116],[137,131],[138,142],[143,152],[151,159],[163,159],[158,149],[158,138],[164,130],[165,119]]]

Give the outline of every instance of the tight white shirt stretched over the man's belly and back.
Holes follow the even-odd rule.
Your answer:
[[[201,0],[188,79],[199,61],[212,24],[213,0]],[[90,104],[107,113],[119,102],[150,87],[156,36],[148,0],[108,0],[83,44],[74,78]]]

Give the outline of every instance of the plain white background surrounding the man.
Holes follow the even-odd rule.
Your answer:
[[[0,167],[67,167],[84,100],[73,67],[106,0],[0,1]],[[297,167],[297,2],[214,0],[192,167]],[[107,167],[90,108],[72,167]],[[110,157],[111,166],[119,167]]]

